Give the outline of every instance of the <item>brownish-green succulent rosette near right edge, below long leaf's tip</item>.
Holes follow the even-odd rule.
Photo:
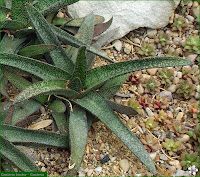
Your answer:
[[[194,95],[195,87],[192,83],[184,80],[179,84],[176,92],[185,99],[189,99]]]

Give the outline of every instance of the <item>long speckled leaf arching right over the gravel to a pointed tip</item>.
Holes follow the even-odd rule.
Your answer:
[[[96,86],[119,75],[147,68],[191,65],[192,62],[176,57],[149,57],[101,66],[87,72],[87,88]]]

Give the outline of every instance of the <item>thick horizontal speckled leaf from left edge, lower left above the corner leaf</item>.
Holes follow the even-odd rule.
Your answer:
[[[68,136],[49,131],[29,130],[10,125],[1,125],[1,134],[16,145],[60,148],[69,146]]]

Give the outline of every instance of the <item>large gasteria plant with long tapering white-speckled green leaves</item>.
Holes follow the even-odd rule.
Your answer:
[[[67,3],[68,1],[64,2]],[[121,106],[112,103],[109,99],[126,80],[126,74],[154,67],[190,65],[191,62],[175,57],[150,57],[91,69],[91,64],[94,61],[93,54],[112,61],[90,45],[94,32],[94,15],[90,14],[83,21],[78,30],[79,35],[76,35],[79,36],[79,39],[77,39],[66,31],[48,23],[50,17],[45,19],[43,15],[47,16],[48,13],[52,12],[50,7],[53,4],[58,5],[58,3],[46,4],[48,4],[48,1],[39,1],[36,4],[32,4],[32,2],[22,3],[21,8],[23,10],[15,8],[18,7],[18,4],[13,5],[15,9],[12,9],[12,11],[18,14],[16,20],[21,20],[26,25],[23,27],[24,29],[20,27],[20,30],[15,33],[11,31],[15,37],[20,39],[12,39],[11,43],[14,42],[15,50],[9,51],[4,47],[1,64],[3,75],[22,91],[17,95],[14,102],[8,104],[2,111],[2,157],[22,171],[37,171],[38,168],[14,145],[41,145],[42,147],[61,148],[70,146],[71,164],[74,164],[75,167],[69,171],[69,175],[73,175],[79,169],[84,155],[88,129],[91,122],[97,117],[121,139],[152,173],[156,174],[155,166],[145,148],[112,110],[118,111],[118,107]],[[11,21],[14,23],[13,20]],[[30,27],[29,22],[31,22],[32,29],[27,28]],[[3,27],[6,28],[6,25]],[[31,39],[26,38],[27,34],[31,34]],[[34,40],[35,34],[39,41],[39,47],[35,46],[38,43],[37,40]],[[8,38],[7,35],[4,37]],[[25,43],[22,40],[24,37]],[[27,39],[29,43],[27,43]],[[67,44],[66,50],[62,48],[58,39],[62,41],[62,44]],[[9,46],[9,40],[5,39],[4,46]],[[40,47],[42,45],[47,45],[48,50],[44,47],[45,50],[41,52]],[[70,51],[73,50],[71,58],[67,53],[69,52],[69,45],[75,47],[70,49]],[[37,58],[35,56],[44,53],[47,54],[46,60],[34,59]],[[29,76],[29,81],[16,73]],[[49,95],[51,95],[51,98],[47,100]],[[30,104],[34,106],[30,108]],[[48,104],[49,109],[53,111],[53,118],[61,134],[13,126],[24,122],[24,120],[27,121],[26,117],[21,116],[22,111],[17,109],[18,106],[30,109],[30,115],[30,112],[36,111],[42,104]],[[123,108],[123,110],[129,109],[131,115],[135,114],[133,108],[125,106]],[[27,112],[25,113],[27,116]],[[20,163],[16,160],[17,158],[21,159]],[[27,168],[28,164],[30,164],[29,168]]]

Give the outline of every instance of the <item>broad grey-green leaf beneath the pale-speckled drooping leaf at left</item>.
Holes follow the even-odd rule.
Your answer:
[[[26,117],[30,116],[31,114],[39,110],[41,106],[42,106],[41,103],[39,103],[34,99],[26,100],[20,104],[15,105],[15,110],[13,112],[13,117],[12,117],[12,125],[21,122]]]

